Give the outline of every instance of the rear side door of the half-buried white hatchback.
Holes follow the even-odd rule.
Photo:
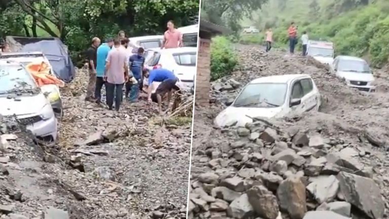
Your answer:
[[[304,95],[301,98],[301,104],[304,107],[305,112],[311,111],[319,103],[319,97],[314,90],[314,83],[312,79],[304,78],[300,80],[300,84]]]

